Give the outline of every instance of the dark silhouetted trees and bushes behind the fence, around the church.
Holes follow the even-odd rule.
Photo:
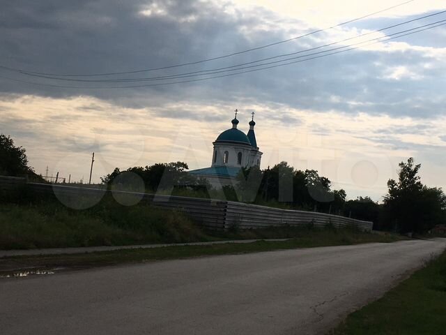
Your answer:
[[[441,188],[422,184],[420,164],[413,158],[399,163],[398,179],[387,182],[382,203],[364,196],[346,200],[343,189],[332,189],[316,170],[296,170],[286,162],[261,170],[241,169],[235,186],[216,190],[202,177],[187,172],[183,162],[156,163],[114,171],[102,177],[109,187],[206,198],[222,198],[267,206],[319,211],[373,221],[374,229],[423,233],[446,223],[446,195]],[[37,174],[29,167],[26,150],[0,134],[0,174],[23,177]],[[43,180],[43,179],[42,179]]]

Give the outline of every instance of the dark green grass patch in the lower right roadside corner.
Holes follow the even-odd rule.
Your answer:
[[[445,315],[446,252],[329,334],[443,335]]]

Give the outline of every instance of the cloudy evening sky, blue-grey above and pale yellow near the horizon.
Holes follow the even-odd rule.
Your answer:
[[[255,112],[261,168],[287,161],[379,201],[413,156],[424,184],[445,188],[446,25],[433,26],[446,5],[403,2],[3,0],[0,133],[36,172],[74,181],[94,151],[99,182],[116,167],[210,166],[237,108],[242,131]],[[248,67],[269,62],[281,66]]]

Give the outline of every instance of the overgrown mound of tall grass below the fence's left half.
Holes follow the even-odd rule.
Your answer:
[[[56,200],[0,204],[0,248],[190,242],[208,237],[190,218],[146,204],[123,206],[105,197],[76,210]]]

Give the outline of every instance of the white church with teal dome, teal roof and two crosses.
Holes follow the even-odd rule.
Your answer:
[[[190,174],[197,177],[205,177],[215,188],[225,185],[236,185],[236,176],[241,168],[259,166],[262,153],[257,147],[256,135],[254,134],[254,112],[249,121],[249,131],[245,134],[240,131],[238,119],[231,121],[232,128],[218,135],[213,142],[213,157],[210,168],[191,170]]]

